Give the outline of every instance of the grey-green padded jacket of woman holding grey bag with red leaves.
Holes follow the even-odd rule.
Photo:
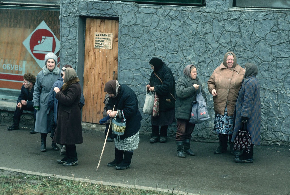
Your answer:
[[[176,119],[189,120],[191,117],[192,102],[196,100],[197,92],[200,92],[200,89],[195,90],[193,84],[200,85],[202,96],[206,101],[206,94],[202,88],[200,80],[198,77],[196,79],[189,78],[184,75],[180,77],[176,84],[176,102],[175,102],[175,117]]]

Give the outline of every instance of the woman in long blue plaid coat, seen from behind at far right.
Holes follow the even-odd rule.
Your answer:
[[[260,126],[261,126],[261,100],[260,85],[256,75],[258,68],[252,63],[246,63],[244,70],[244,80],[239,91],[235,107],[235,127],[232,141],[238,134],[238,130],[246,127],[251,135],[251,145],[249,153],[243,152],[235,158],[238,163],[253,162],[253,145],[260,144]]]

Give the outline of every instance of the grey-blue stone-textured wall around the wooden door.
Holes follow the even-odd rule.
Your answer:
[[[229,0],[207,0],[205,7],[140,5],[117,1],[61,0],[61,64],[78,61],[79,26],[83,17],[119,18],[118,79],[130,85],[139,99],[151,74],[148,61],[159,57],[175,80],[186,65],[194,64],[206,82],[224,53],[233,51],[237,62],[258,65],[261,87],[263,144],[290,144],[290,10],[229,8]],[[209,92],[208,92],[209,93]],[[214,117],[211,94],[208,108]],[[143,115],[141,131],[148,133],[150,117]],[[196,139],[217,139],[213,121],[198,124]],[[175,132],[175,124],[168,133]]]

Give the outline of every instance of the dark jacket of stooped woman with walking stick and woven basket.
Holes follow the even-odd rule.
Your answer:
[[[123,110],[126,119],[126,128],[124,135],[120,139],[126,139],[135,135],[141,126],[142,116],[138,109],[138,99],[135,92],[125,84],[120,84],[118,94],[115,98],[110,97],[107,110]]]

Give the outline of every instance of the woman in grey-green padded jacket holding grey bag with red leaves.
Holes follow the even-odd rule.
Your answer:
[[[180,77],[176,84],[176,102],[175,117],[177,120],[176,146],[177,156],[185,158],[184,153],[195,155],[190,149],[191,133],[195,124],[189,123],[191,117],[191,108],[193,101],[196,100],[196,94],[201,89],[202,96],[206,101],[206,94],[202,88],[200,80],[197,77],[197,69],[194,65],[187,65],[183,70],[184,76]],[[197,91],[198,90],[198,91]]]

